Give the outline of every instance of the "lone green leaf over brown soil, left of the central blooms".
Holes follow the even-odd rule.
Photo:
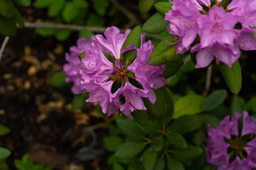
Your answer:
[[[72,83],[67,83],[65,81],[66,77],[67,75],[63,71],[57,72],[52,75],[49,82],[53,87],[56,88],[69,87],[72,85]]]

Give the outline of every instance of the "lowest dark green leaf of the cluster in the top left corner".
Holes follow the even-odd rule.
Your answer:
[[[0,34],[11,37],[16,34],[16,20],[15,18],[5,18],[0,15]]]

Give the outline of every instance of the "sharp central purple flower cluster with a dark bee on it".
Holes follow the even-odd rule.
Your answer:
[[[75,82],[74,79],[79,79],[79,83],[75,83],[73,88],[90,92],[86,102],[99,104],[108,116],[115,115],[120,110],[132,119],[132,111],[146,110],[142,97],[151,103],[156,102],[153,90],[165,85],[165,78],[160,77],[165,65],[148,65],[154,46],[150,40],[145,41],[144,34],[141,34],[140,48],[136,48],[134,44],[124,48],[123,44],[130,32],[126,30],[125,34],[120,34],[119,29],[112,26],[106,29],[106,38],[98,34],[92,38],[89,45],[84,44],[82,48],[79,40],[79,47],[76,50],[72,48],[70,58],[67,57],[70,64],[64,65],[64,71],[69,76],[67,81]],[[124,52],[135,49],[137,57],[134,62],[120,60]],[[82,51],[85,51],[85,55],[80,61],[77,54]],[[131,81],[133,79],[139,82],[143,89],[135,87]]]

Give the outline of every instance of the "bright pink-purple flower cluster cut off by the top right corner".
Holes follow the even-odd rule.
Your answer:
[[[256,31],[250,28],[256,26],[256,0],[232,0],[226,10],[219,7],[221,1],[211,6],[210,0],[173,0],[166,13],[167,30],[177,38],[176,53],[198,51],[196,68],[207,67],[214,57],[217,64],[221,61],[231,68],[240,49],[256,50],[252,34]],[[238,23],[241,28],[236,28]],[[200,43],[190,48],[197,35]]]

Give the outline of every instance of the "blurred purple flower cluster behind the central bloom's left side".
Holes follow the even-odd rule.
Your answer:
[[[73,94],[81,93],[79,91],[79,89],[82,88],[81,79],[76,77],[76,72],[78,70],[87,70],[81,63],[80,54],[81,52],[88,50],[89,46],[90,42],[88,42],[85,38],[80,38],[79,40],[77,40],[77,46],[70,47],[71,54],[65,54],[65,58],[68,63],[63,65],[63,71],[67,74],[67,77],[65,79],[66,82],[74,83],[73,87],[71,88]]]

